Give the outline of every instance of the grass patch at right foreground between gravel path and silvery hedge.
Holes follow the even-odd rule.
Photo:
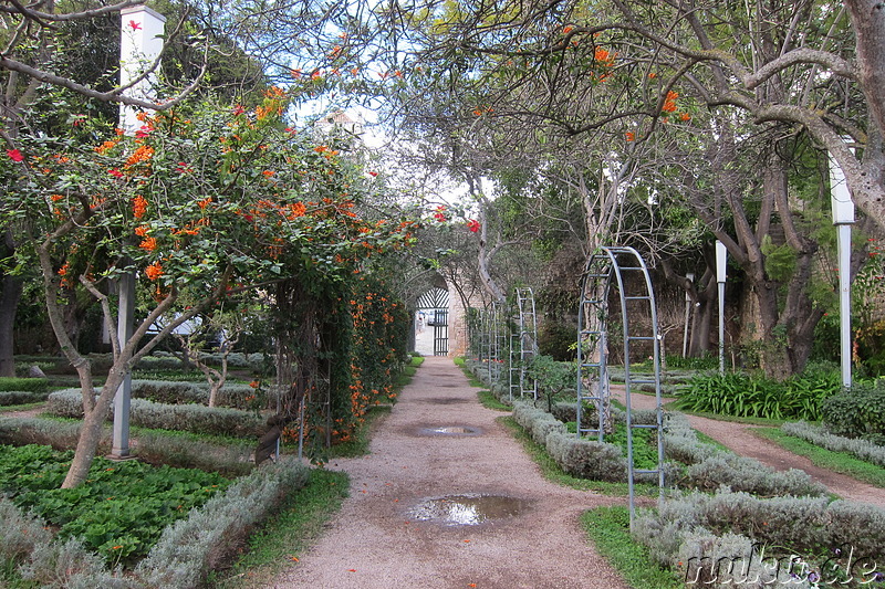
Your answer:
[[[596,507],[584,512],[581,524],[587,537],[631,587],[635,589],[683,589],[671,570],[660,568],[648,556],[648,548],[629,535],[629,511],[623,506]]]

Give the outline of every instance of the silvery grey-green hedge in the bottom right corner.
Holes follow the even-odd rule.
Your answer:
[[[633,536],[693,583],[809,588],[815,579],[840,585],[840,567],[885,561],[885,509],[826,497],[689,493],[641,512]],[[875,578],[872,570],[847,572],[855,582]]]

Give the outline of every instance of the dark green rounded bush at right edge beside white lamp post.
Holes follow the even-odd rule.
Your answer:
[[[885,380],[857,382],[851,390],[830,397],[821,414],[831,433],[885,445]]]

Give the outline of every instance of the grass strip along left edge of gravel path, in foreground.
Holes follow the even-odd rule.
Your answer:
[[[323,533],[326,522],[347,497],[345,473],[314,469],[308,484],[289,496],[281,511],[249,538],[248,551],[230,570],[215,575],[217,589],[269,587],[284,568],[295,566],[300,555]]]

